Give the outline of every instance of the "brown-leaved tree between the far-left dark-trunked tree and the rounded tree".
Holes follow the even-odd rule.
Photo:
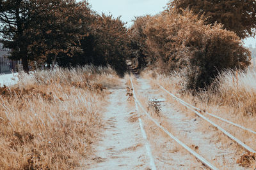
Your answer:
[[[33,43],[28,46],[28,54],[41,59],[43,63],[46,61],[48,65],[58,61],[70,66],[67,61],[83,53],[81,40],[89,35],[92,11],[86,1],[58,0],[54,3],[56,5],[47,13],[40,13],[38,20],[42,22],[33,24],[35,26],[30,32]]]

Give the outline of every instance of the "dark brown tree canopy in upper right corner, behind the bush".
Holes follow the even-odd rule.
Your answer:
[[[218,22],[225,29],[236,32],[240,38],[255,36],[256,2],[255,0],[174,0],[169,8],[175,7],[179,12],[188,8],[193,13],[204,15],[206,24]]]

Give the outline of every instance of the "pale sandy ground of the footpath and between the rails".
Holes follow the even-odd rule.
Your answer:
[[[136,81],[136,96],[145,108],[148,99],[164,99],[159,113],[148,111],[169,132],[219,169],[246,169],[237,164],[246,153],[243,148],[195,114],[179,111],[163,91],[150,87],[147,80]],[[126,87],[124,80],[120,88],[110,89],[105,127],[85,169],[152,169],[138,117],[143,121],[156,169],[208,169],[156,127],[142,110],[137,111],[134,101],[127,101]]]

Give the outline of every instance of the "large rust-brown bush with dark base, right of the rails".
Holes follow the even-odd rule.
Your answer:
[[[205,89],[225,69],[245,69],[250,65],[250,52],[234,32],[221,25],[189,27],[180,52],[188,66],[184,69],[186,89]],[[249,57],[248,57],[249,56]]]

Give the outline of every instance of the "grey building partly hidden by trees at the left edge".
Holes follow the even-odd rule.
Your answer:
[[[12,50],[5,48],[3,41],[0,41],[0,73],[8,73],[11,71],[19,71],[21,66],[21,61],[15,61],[8,59],[8,55]]]

